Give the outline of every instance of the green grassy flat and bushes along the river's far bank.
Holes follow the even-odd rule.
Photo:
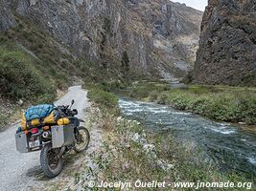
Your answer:
[[[217,120],[256,123],[253,88],[191,85],[186,89],[170,89],[168,84],[146,83],[134,85],[130,96]]]

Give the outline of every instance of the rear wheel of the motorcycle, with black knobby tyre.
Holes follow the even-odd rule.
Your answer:
[[[41,168],[48,178],[57,177],[62,171],[62,158],[58,157],[59,149],[53,149],[51,144],[43,146],[40,155]]]

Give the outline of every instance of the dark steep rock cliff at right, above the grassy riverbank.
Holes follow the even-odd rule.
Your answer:
[[[209,0],[195,82],[256,86],[256,1]]]

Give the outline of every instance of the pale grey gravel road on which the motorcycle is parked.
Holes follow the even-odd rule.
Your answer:
[[[73,108],[78,109],[79,116],[84,117],[83,110],[89,105],[87,92],[81,86],[69,88],[68,93],[55,104],[67,105],[74,99]],[[20,154],[16,151],[14,134],[18,127],[14,125],[0,133],[0,190],[27,190],[35,180],[35,171],[40,171],[39,152]]]

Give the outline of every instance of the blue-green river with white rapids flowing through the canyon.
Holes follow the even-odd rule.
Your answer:
[[[236,125],[216,122],[171,107],[120,98],[123,114],[154,133],[164,130],[196,145],[223,170],[256,176],[256,135]]]

